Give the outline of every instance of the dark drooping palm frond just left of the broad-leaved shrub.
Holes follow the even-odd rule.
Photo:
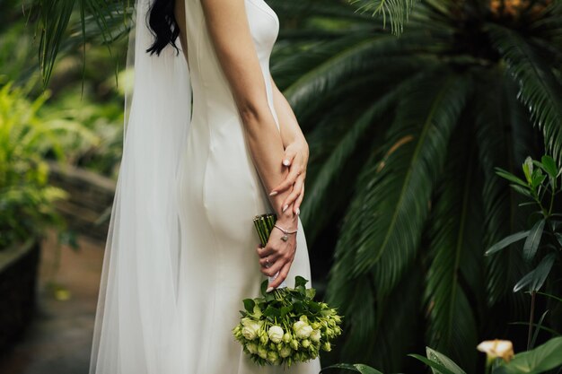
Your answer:
[[[509,80],[504,82],[488,75],[476,95],[479,98],[475,105],[479,162],[484,177],[481,196],[487,227],[484,248],[525,228],[525,222],[518,219],[517,214],[520,199],[505,179],[496,175],[495,167],[512,171],[519,169],[524,158],[536,148],[533,138],[537,137],[537,131],[533,131],[522,103],[515,97],[515,83]],[[512,319],[521,318],[525,309],[524,299],[522,295],[512,295],[511,292],[520,274],[528,270],[520,252],[505,250],[493,257],[486,257],[486,263],[488,306],[504,303],[506,295],[509,295]]]

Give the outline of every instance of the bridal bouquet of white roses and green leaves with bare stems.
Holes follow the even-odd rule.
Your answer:
[[[262,245],[268,242],[275,214],[254,219]],[[294,278],[294,289],[266,292],[268,281],[261,283],[257,299],[243,300],[241,321],[233,328],[235,339],[259,365],[286,365],[318,357],[330,351],[331,341],[341,334],[341,317],[325,302],[313,300],[316,291],[307,289],[308,281]]]

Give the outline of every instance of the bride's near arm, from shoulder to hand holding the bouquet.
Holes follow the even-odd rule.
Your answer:
[[[269,109],[261,66],[250,34],[244,0],[200,0],[206,25],[233,97],[241,114],[244,131],[254,165],[264,186],[271,190],[280,184],[288,171],[279,162],[284,146],[275,118]],[[285,230],[296,230],[298,215],[282,203],[289,191],[270,196],[277,212],[277,222]],[[282,283],[293,263],[296,235],[282,240],[283,233],[273,230],[259,257],[268,258],[270,267],[262,267],[268,276],[279,273],[269,290]]]

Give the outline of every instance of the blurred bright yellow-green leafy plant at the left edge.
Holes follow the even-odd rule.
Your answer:
[[[26,93],[13,83],[0,89],[0,249],[39,237],[48,227],[66,228],[55,203],[67,195],[48,185],[43,155],[54,150],[64,159],[57,134],[80,129],[63,120],[40,118],[48,92],[33,101]]]

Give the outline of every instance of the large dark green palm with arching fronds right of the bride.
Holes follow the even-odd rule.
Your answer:
[[[506,321],[527,317],[512,288],[531,267],[484,252],[529,209],[495,167],[545,149],[561,161],[562,7],[428,0],[397,38],[339,2],[271,4],[294,25],[272,71],[311,144],[307,239],[339,234],[327,290],[347,317],[339,361],[401,370],[426,344],[475,372],[467,347],[524,335]]]

